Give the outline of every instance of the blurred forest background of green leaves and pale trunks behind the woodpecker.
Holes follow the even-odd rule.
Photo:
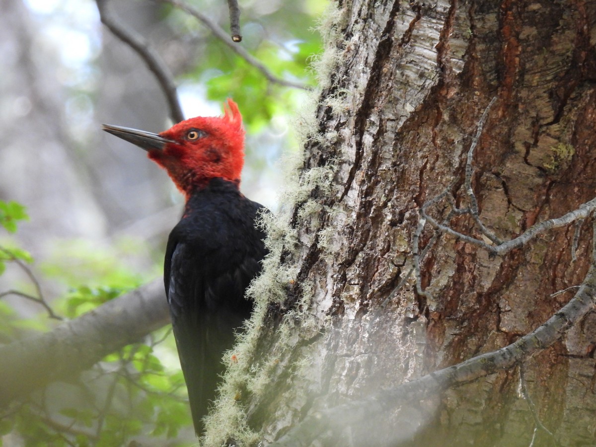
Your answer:
[[[225,2],[187,4],[229,29]],[[307,95],[284,83],[313,85],[326,2],[240,2],[238,45],[270,79],[171,4],[107,5],[172,70],[185,117],[237,101],[247,128],[241,188],[275,210],[276,163],[297,150],[291,123]],[[0,343],[10,343],[160,277],[182,197],[143,151],[100,131],[172,123],[154,76],[101,25],[95,2],[0,0],[0,11]],[[185,393],[163,328],[4,409],[0,445],[193,445]]]

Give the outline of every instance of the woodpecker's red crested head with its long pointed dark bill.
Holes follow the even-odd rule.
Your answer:
[[[238,105],[228,99],[224,116],[197,116],[161,134],[104,125],[110,132],[147,150],[187,198],[212,178],[240,184],[244,165],[244,129]]]

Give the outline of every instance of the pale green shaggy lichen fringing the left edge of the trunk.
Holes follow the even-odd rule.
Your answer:
[[[321,148],[333,145],[337,139],[337,132],[331,131],[320,134],[316,114],[314,113],[316,99],[320,92],[330,87],[331,76],[340,61],[342,52],[342,36],[340,27],[344,11],[337,10],[336,5],[330,5],[318,25],[321,31],[325,50],[319,57],[313,58],[312,69],[315,70],[319,81],[319,89],[311,94],[311,101],[294,123],[296,134],[301,147],[315,141]],[[331,107],[339,110],[345,107],[346,92],[330,97]],[[246,408],[241,405],[245,396],[241,393],[249,392],[258,401],[259,396],[270,386],[270,377],[284,361],[284,351],[291,349],[297,342],[295,325],[299,322],[300,336],[309,336],[319,328],[315,319],[309,316],[309,306],[313,296],[313,285],[309,281],[302,281],[299,285],[300,294],[297,302],[284,315],[275,333],[275,345],[269,353],[259,353],[259,362],[250,364],[257,342],[262,333],[262,322],[265,319],[270,303],[283,303],[287,297],[288,285],[296,283],[297,269],[293,264],[292,253],[300,249],[299,229],[308,224],[310,231],[317,231],[321,222],[319,214],[328,207],[322,205],[325,197],[337,192],[334,185],[336,167],[334,160],[324,166],[303,169],[303,154],[294,154],[284,158],[281,163],[284,170],[285,183],[280,194],[283,204],[278,213],[263,213],[259,218],[259,225],[266,229],[265,245],[269,250],[263,260],[262,274],[256,278],[247,290],[247,295],[254,299],[255,309],[252,318],[245,322],[244,330],[238,335],[237,344],[224,355],[224,363],[228,366],[224,380],[219,388],[219,398],[206,419],[206,434],[201,443],[206,446],[222,445],[227,439],[234,439],[237,445],[252,445],[259,436],[246,426]],[[296,212],[296,211],[297,212]],[[328,210],[327,210],[328,211]],[[291,222],[294,213],[296,222]],[[327,240],[324,237],[322,241]],[[327,245],[327,244],[325,244]],[[288,255],[289,253],[289,255]],[[282,262],[282,259],[288,259]],[[300,369],[306,361],[296,361],[294,369]]]

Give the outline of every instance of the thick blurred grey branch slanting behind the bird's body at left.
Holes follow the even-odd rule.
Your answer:
[[[169,322],[161,280],[54,330],[0,346],[0,408],[51,381],[72,378]]]

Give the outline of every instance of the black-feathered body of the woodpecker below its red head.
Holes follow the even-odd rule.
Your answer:
[[[197,434],[224,371],[222,355],[253,309],[244,290],[266,253],[255,224],[260,210],[233,182],[212,179],[190,195],[167,242],[164,284]]]

